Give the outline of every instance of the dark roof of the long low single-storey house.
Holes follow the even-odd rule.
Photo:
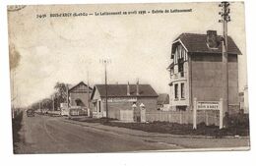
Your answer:
[[[130,95],[127,95],[127,84],[107,84],[107,96],[109,97],[158,97],[158,93],[150,84],[139,84],[139,95],[136,94],[136,84],[130,85]],[[96,84],[93,90],[92,98],[96,89],[100,96],[105,96],[105,84]]]

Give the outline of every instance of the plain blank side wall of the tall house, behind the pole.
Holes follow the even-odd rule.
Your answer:
[[[220,100],[223,94],[222,54],[195,54],[191,59],[192,98]],[[236,55],[228,55],[228,97],[230,105],[239,105]]]

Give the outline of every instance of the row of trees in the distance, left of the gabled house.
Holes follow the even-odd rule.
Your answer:
[[[37,102],[34,102],[31,106],[33,110],[60,110],[60,103],[67,102],[67,84],[66,83],[55,83],[54,92],[51,96],[43,98]]]

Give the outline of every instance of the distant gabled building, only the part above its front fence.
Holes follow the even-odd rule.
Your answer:
[[[89,99],[93,88],[84,82],[72,86],[69,90],[69,107],[89,108]]]

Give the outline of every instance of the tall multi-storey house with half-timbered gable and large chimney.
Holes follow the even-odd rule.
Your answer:
[[[219,101],[223,97],[221,39],[216,30],[208,30],[207,34],[181,33],[172,42],[167,68],[171,110],[191,111],[194,98]],[[227,45],[228,110],[234,113],[239,110],[237,55],[241,52],[230,36]]]

